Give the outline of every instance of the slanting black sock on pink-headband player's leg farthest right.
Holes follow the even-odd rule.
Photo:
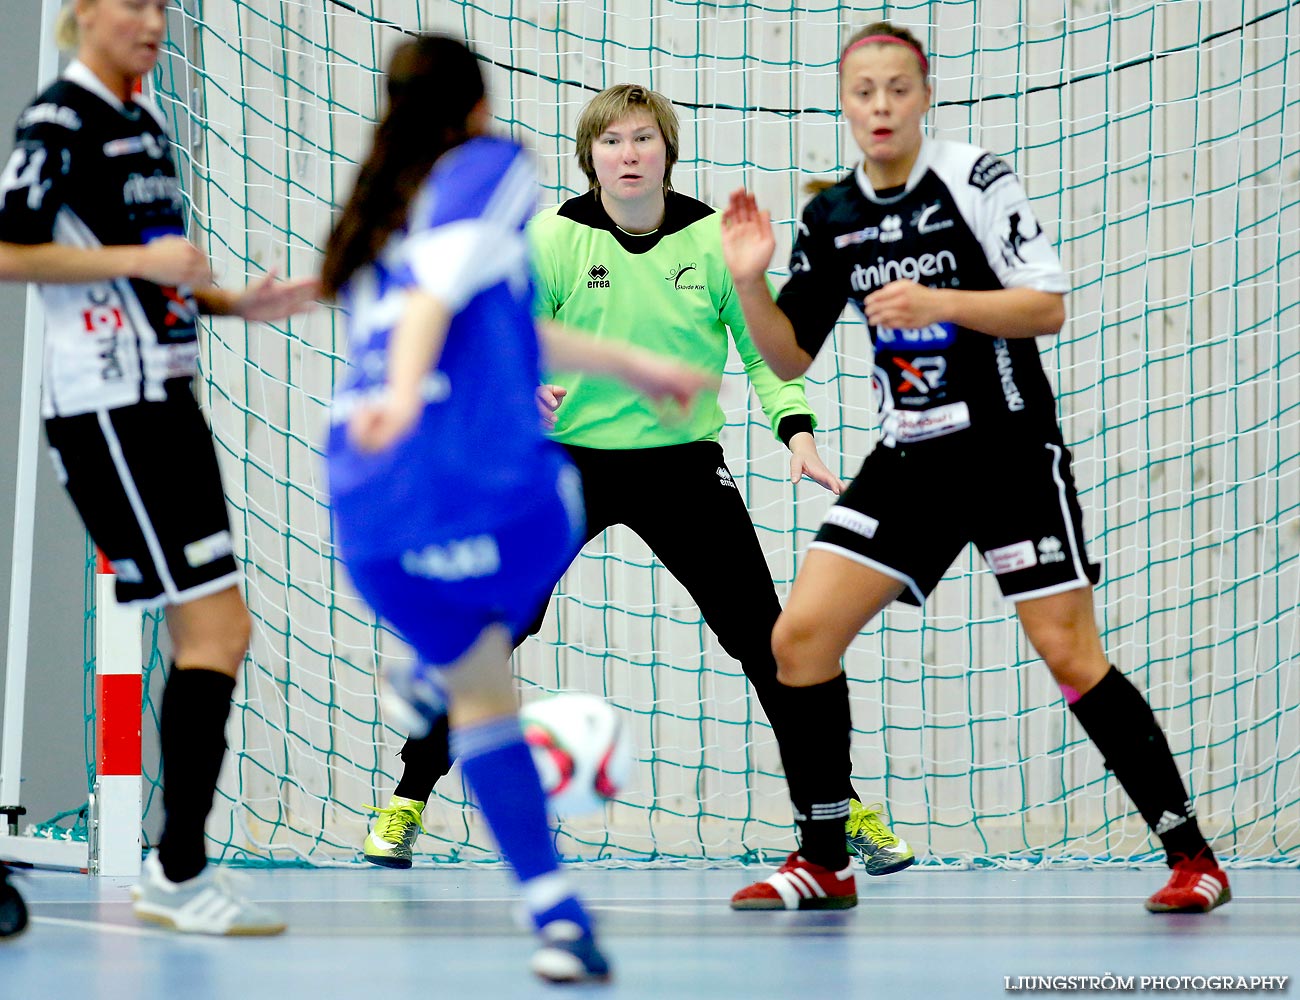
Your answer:
[[[1147,698],[1115,667],[1070,706],[1173,865],[1208,849],[1187,785]]]

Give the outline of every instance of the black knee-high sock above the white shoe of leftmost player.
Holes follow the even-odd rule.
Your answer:
[[[212,810],[235,679],[216,670],[176,664],[162,689],[162,836],[159,862],[172,882],[194,878],[207,863],[203,826]]]

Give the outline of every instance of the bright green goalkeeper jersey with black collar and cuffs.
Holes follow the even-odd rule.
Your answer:
[[[812,429],[803,380],[777,378],[745,330],[723,263],[720,216],[708,205],[670,191],[659,229],[632,235],[614,224],[595,192],[588,192],[538,213],[528,234],[538,316],[719,377],[729,328],[774,433],[789,441],[792,433]],[[664,416],[654,402],[614,378],[559,371],[546,377],[568,390],[552,433],[566,445],[685,445],[716,440],[723,427],[716,393],[701,394],[686,414]]]

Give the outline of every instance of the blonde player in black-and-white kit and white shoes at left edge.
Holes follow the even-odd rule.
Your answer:
[[[40,283],[46,434],[118,601],[166,607],[166,819],[136,914],[181,931],[276,934],[283,923],[234,896],[204,856],[250,619],[191,378],[200,312],[282,319],[316,282],[268,274],[218,290],[185,239],[172,140],[139,94],[165,12],[164,0],[74,0],[60,13],[60,44],[77,59],[18,118],[0,176],[0,277]]]

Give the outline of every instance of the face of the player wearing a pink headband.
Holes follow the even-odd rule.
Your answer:
[[[930,85],[906,46],[867,44],[841,69],[840,103],[868,164],[911,164],[930,111]]]

